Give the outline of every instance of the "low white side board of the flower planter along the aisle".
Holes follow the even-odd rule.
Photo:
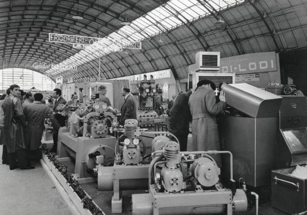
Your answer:
[[[67,195],[69,196],[71,201],[74,203],[74,205],[76,206],[76,208],[80,212],[80,214],[91,215],[92,212],[89,209],[83,208],[83,203],[82,203],[82,200],[80,199],[80,197],[77,195],[77,193],[74,191],[74,189],[69,185],[69,183],[64,178],[64,176],[60,173],[60,171],[48,159],[48,157],[45,154],[43,154],[42,159],[43,159],[43,161],[45,161],[46,165],[52,171],[53,175],[58,180],[58,182],[61,184],[61,186],[64,188],[64,190],[67,192]],[[85,192],[85,195],[87,197],[90,197],[86,192]],[[99,208],[94,201],[93,201],[93,203],[96,205],[97,208]]]

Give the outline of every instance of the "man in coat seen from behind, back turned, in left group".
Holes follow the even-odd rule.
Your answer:
[[[34,157],[35,160],[41,157],[41,151],[38,148],[41,145],[45,117],[47,116],[53,121],[52,111],[46,104],[41,102],[42,98],[41,93],[35,93],[34,102],[24,107],[24,114],[28,122],[28,126],[25,127],[25,142],[30,157]]]

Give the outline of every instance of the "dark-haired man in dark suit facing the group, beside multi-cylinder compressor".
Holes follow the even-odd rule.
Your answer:
[[[57,111],[57,107],[59,104],[66,104],[66,100],[61,96],[62,91],[60,89],[54,89],[52,97],[54,98],[54,105],[53,105],[53,146],[50,152],[56,153],[57,149],[57,141],[59,135],[59,128],[65,125],[65,117],[60,115]]]

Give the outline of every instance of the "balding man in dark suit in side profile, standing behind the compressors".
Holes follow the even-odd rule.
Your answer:
[[[120,109],[120,125],[124,125],[126,119],[137,119],[136,103],[134,101],[133,95],[130,94],[130,89],[123,87],[122,95],[125,97],[125,99],[124,104]]]

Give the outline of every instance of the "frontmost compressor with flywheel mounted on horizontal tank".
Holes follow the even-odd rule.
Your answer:
[[[132,213],[212,214],[246,211],[243,189],[219,183],[220,168],[209,154],[227,151],[180,152],[177,142],[167,140],[149,164],[149,193],[132,195]],[[230,167],[232,173],[232,165]],[[230,181],[235,184],[232,179]]]

